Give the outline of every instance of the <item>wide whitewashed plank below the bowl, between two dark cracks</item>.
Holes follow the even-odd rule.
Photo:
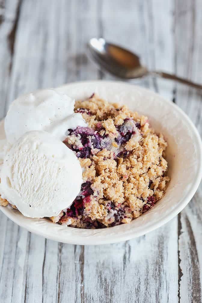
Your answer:
[[[177,302],[176,220],[148,235],[84,249],[84,302]],[[165,237],[166,235],[166,237]],[[165,239],[166,238],[166,239]]]

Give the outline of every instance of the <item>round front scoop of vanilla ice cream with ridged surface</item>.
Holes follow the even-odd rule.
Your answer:
[[[24,216],[52,217],[81,189],[82,170],[73,151],[44,131],[25,133],[7,151],[0,192]]]

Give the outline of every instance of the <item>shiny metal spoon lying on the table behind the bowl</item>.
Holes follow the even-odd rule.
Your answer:
[[[141,65],[137,55],[118,45],[108,43],[103,38],[90,39],[88,47],[92,58],[101,68],[120,78],[134,79],[151,75],[153,77],[175,80],[202,89],[202,85],[174,74],[161,71],[149,71],[145,66]]]

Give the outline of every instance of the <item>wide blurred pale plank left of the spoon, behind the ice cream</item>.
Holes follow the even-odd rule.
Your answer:
[[[37,88],[97,78],[94,65],[88,74],[86,69],[86,42],[97,35],[96,6],[90,3],[91,9],[83,1],[23,2],[8,103]]]

